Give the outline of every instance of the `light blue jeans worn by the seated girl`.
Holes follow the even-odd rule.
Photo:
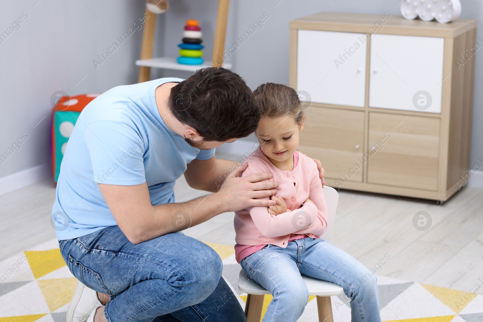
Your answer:
[[[273,295],[263,322],[295,322],[302,315],[309,293],[300,274],[341,285],[351,300],[352,322],[381,321],[376,276],[322,238],[297,239],[287,248],[267,245],[241,266]]]

